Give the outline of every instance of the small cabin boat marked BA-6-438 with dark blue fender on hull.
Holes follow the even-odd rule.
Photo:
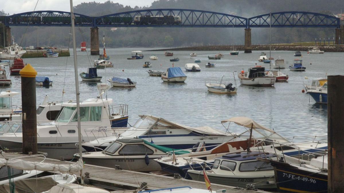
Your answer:
[[[165,157],[171,148],[155,145],[139,138],[122,138],[113,141],[104,151],[87,152],[82,155],[87,164],[108,168],[149,172],[161,170],[160,165],[154,161],[156,158]],[[179,151],[177,155],[189,153]],[[78,154],[75,157],[79,157]],[[116,166],[117,165],[117,166]]]

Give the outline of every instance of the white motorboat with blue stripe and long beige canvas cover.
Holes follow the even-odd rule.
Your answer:
[[[174,149],[187,149],[192,148],[198,142],[203,143],[204,141],[207,145],[218,145],[223,141],[233,139],[234,136],[236,134],[223,132],[208,126],[189,127],[152,115],[140,115],[139,120],[119,137],[97,138],[97,140],[85,144],[105,149],[118,138],[139,137],[156,145]]]

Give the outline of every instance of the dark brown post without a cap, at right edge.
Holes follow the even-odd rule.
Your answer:
[[[339,193],[344,192],[344,76],[328,76],[327,85],[327,190]]]

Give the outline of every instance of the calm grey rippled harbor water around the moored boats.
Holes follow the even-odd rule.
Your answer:
[[[292,136],[326,136],[327,135],[327,106],[315,104],[308,94],[301,93],[305,77],[309,80],[324,78],[327,75],[343,75],[344,53],[325,53],[294,57],[291,51],[273,51],[272,57],[279,56],[285,60],[286,66],[292,64],[293,59],[303,59],[307,67],[305,72],[282,69],[289,75],[288,82],[277,82],[275,87],[250,87],[240,85],[237,72],[234,72],[238,87],[237,94],[209,93],[205,82],[219,82],[223,75],[233,75],[233,71],[247,70],[257,63],[269,69],[269,64],[258,63],[260,51],[252,54],[240,52],[238,56],[230,56],[228,51],[221,60],[208,60],[208,55],[215,55],[215,51],[196,52],[197,57],[190,57],[188,51],[174,51],[173,57],[165,57],[164,52],[143,52],[144,59],[127,60],[133,50],[147,50],[148,48],[107,49],[113,68],[98,70],[98,76],[103,76],[102,82],[116,76],[130,78],[137,81],[136,88],[115,88],[107,91],[108,98],[114,99],[114,104],[129,104],[129,123],[137,120],[137,115],[151,114],[187,126],[211,126],[225,130],[221,121],[234,116],[250,117],[256,122],[275,129],[284,137]],[[269,52],[266,51],[267,55]],[[57,58],[28,58],[25,63],[31,64],[38,76],[48,76],[53,81],[50,88],[36,87],[37,105],[45,95],[49,101],[75,100],[73,52],[71,57]],[[158,60],[149,60],[150,55],[158,56]],[[172,67],[169,59],[180,58],[174,62],[175,67],[184,70],[186,63],[194,63],[194,59],[201,59],[198,63],[201,72],[184,72],[187,76],[185,83],[165,83],[160,77],[150,77],[148,69],[164,71]],[[87,71],[91,67],[95,56],[87,57],[86,52],[77,52],[78,73]],[[150,61],[152,68],[142,68],[144,61]],[[215,63],[215,68],[205,68],[208,62]],[[311,63],[311,65],[310,65]],[[5,68],[9,73],[8,67]],[[123,71],[124,70],[124,71]],[[12,86],[3,88],[20,92],[19,76],[11,76]],[[225,79],[232,82],[233,78]],[[96,83],[82,81],[79,77],[80,100],[95,98],[99,91]],[[64,94],[62,95],[64,90]],[[13,103],[21,105],[21,96],[15,96]],[[229,128],[231,132],[242,132],[240,127]],[[298,138],[304,140],[305,138]]]

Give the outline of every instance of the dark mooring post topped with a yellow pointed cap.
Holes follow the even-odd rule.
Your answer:
[[[19,72],[22,84],[23,153],[37,154],[36,75],[37,71],[26,65]]]

